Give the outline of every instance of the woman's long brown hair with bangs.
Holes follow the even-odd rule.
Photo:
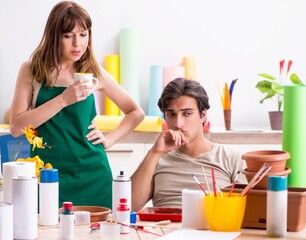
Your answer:
[[[92,47],[91,18],[79,4],[62,1],[56,4],[48,17],[43,37],[31,55],[31,72],[34,79],[46,85],[52,85],[52,77],[59,76],[61,70],[63,34],[71,32],[76,25],[89,31],[89,42],[86,52],[75,63],[77,72],[91,72],[96,78],[102,79],[99,64]],[[52,73],[55,72],[55,76]]]

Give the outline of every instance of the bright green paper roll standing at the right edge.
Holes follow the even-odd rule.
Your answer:
[[[290,153],[288,186],[306,187],[306,86],[285,86],[283,150]]]

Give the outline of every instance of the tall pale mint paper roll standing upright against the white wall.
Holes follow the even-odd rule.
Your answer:
[[[140,105],[140,31],[122,28],[119,37],[120,83]]]

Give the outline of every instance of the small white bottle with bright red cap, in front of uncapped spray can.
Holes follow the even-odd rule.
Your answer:
[[[117,207],[117,222],[121,224],[121,234],[130,233],[130,208],[128,207],[126,198],[120,198],[119,200],[119,206]]]

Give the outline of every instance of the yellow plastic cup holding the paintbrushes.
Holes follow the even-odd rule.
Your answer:
[[[205,211],[211,231],[239,232],[245,211],[246,195],[223,192],[205,196]]]

